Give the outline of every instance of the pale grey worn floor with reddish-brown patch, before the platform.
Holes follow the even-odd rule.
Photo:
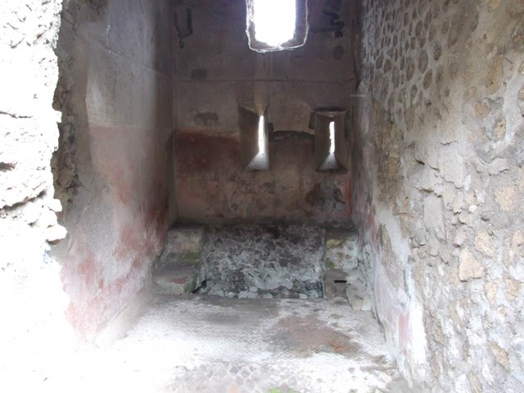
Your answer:
[[[96,376],[126,392],[409,391],[373,315],[328,300],[159,296],[97,359],[81,386]]]

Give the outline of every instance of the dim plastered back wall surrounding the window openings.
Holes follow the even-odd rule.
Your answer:
[[[310,117],[350,101],[357,14],[353,2],[311,0],[309,7],[305,46],[257,53],[248,45],[245,0],[175,2],[182,221],[348,219],[350,175],[315,172]],[[267,108],[269,172],[241,166],[238,105],[259,114]]]

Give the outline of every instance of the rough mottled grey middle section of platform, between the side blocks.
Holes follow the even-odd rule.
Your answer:
[[[239,298],[321,298],[325,231],[305,225],[211,227],[201,293]]]

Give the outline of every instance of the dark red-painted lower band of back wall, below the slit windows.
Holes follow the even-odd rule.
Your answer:
[[[261,172],[242,168],[236,135],[179,130],[174,149],[181,221],[350,219],[351,177],[314,169],[312,137],[271,140],[270,170]]]

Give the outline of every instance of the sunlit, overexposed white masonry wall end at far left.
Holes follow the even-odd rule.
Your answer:
[[[65,236],[50,167],[60,9],[59,0],[7,0],[0,13],[0,370],[31,367],[32,378],[36,354],[59,356],[70,337],[60,266],[47,255]]]

